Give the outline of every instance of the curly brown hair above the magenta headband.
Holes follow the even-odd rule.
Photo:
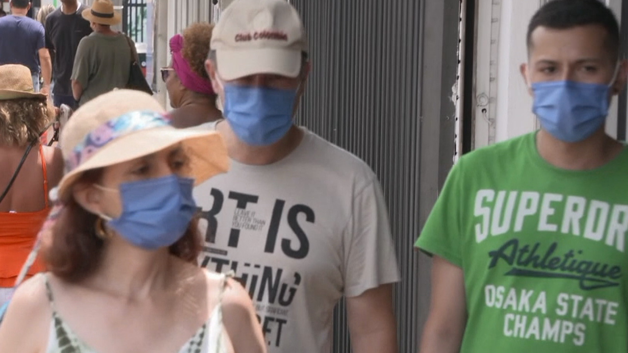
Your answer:
[[[193,23],[183,31],[183,49],[181,55],[188,62],[194,73],[203,79],[209,79],[205,71],[205,58],[209,52],[214,24],[207,22]]]

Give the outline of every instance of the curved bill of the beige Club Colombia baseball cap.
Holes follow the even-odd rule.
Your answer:
[[[224,80],[235,80],[257,73],[297,77],[301,71],[301,52],[284,48],[216,50],[218,72]]]

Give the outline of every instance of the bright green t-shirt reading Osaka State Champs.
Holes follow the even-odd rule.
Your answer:
[[[628,352],[628,149],[568,171],[535,136],[460,158],[416,241],[463,270],[461,352]]]

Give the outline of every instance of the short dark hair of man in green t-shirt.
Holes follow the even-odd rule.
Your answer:
[[[532,48],[532,33],[538,27],[567,30],[597,24],[607,31],[605,43],[609,52],[619,55],[619,23],[612,11],[600,0],[552,0],[534,14],[528,25],[528,52]]]

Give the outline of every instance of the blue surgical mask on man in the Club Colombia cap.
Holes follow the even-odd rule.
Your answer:
[[[298,89],[225,83],[223,90],[224,116],[234,134],[244,143],[268,146],[290,130]]]

